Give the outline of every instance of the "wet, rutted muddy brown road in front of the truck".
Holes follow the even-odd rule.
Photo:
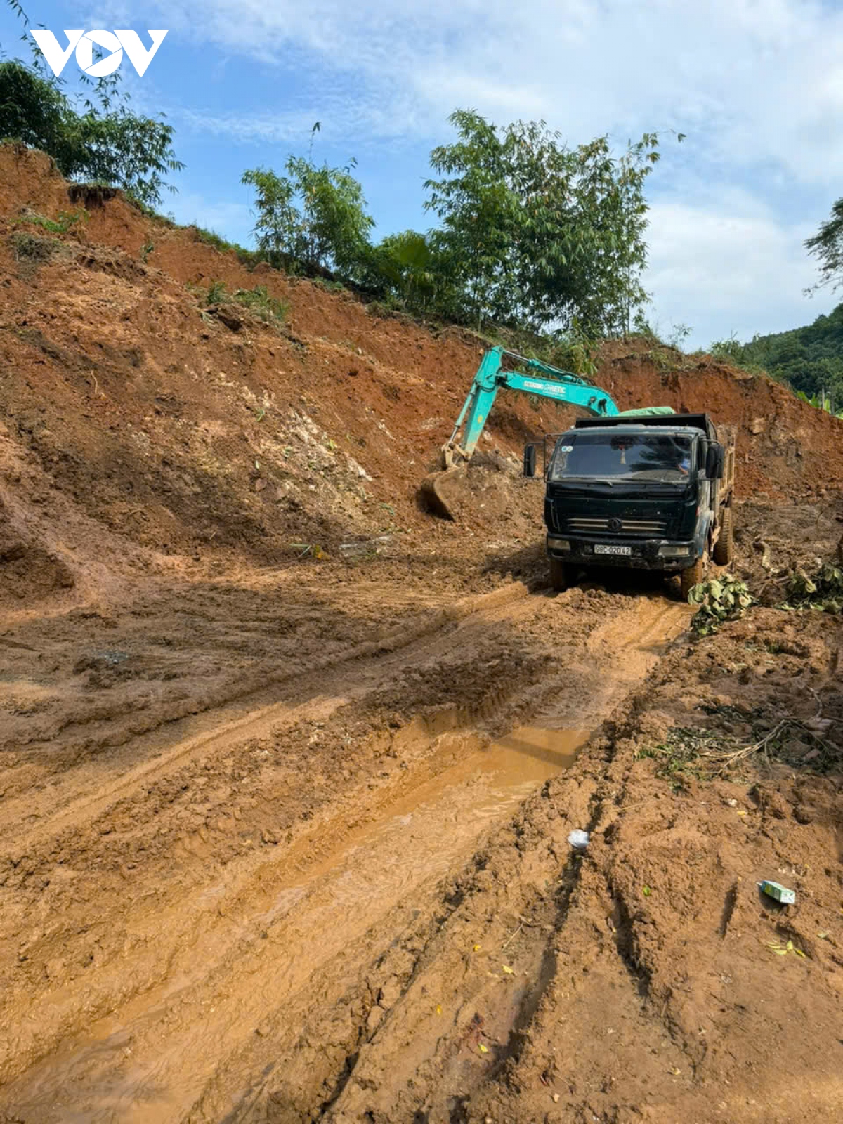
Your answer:
[[[688,622],[443,579],[149,582],[7,628],[9,1120],[341,1112],[454,887]]]

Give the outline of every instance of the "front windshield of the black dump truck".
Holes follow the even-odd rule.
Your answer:
[[[554,481],[598,477],[685,483],[690,471],[689,437],[583,430],[560,437],[547,475]]]

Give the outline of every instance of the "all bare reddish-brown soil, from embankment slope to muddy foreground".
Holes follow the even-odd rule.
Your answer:
[[[0,1120],[843,1117],[843,635],[774,608],[835,554],[841,423],[607,347],[622,407],[740,426],[764,607],[692,644],[658,581],[547,589],[515,473],[563,411],[502,399],[464,519],[419,507],[474,337],[119,196],[20,221],[67,191],[0,148]]]

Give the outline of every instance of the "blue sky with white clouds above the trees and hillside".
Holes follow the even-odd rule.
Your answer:
[[[162,210],[251,244],[245,169],[356,160],[375,236],[425,229],[455,108],[571,144],[662,134],[647,181],[650,321],[686,346],[780,332],[837,302],[804,247],[843,194],[843,3],[813,0],[22,0],[34,26],[167,28],[137,111],[187,164]],[[26,52],[0,10],[7,56]],[[65,76],[78,73],[71,61]],[[671,132],[672,130],[672,132]],[[686,134],[678,144],[676,133]]]

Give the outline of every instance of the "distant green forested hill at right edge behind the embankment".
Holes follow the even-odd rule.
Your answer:
[[[825,390],[836,409],[843,407],[843,305],[804,328],[755,336],[747,344],[728,339],[711,351],[742,366],[763,368],[808,398]]]

